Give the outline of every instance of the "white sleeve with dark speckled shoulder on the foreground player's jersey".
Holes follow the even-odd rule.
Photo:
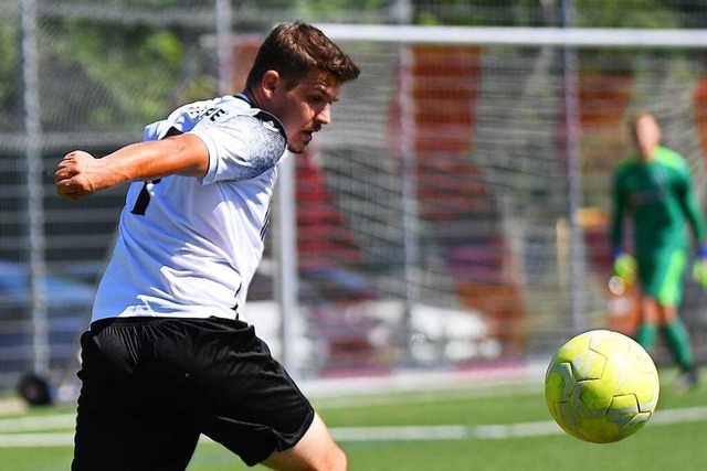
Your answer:
[[[285,131],[264,111],[204,117],[190,131],[209,150],[209,170],[201,180],[249,180],[275,167],[285,153]]]

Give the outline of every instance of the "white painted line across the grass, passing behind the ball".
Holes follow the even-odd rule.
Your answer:
[[[707,420],[707,406],[658,410],[650,426],[685,424]],[[17,433],[18,431],[56,430],[73,427],[72,414],[0,419],[0,448],[71,447],[73,432]],[[346,441],[433,441],[433,440],[498,440],[521,437],[561,435],[552,420],[481,426],[399,426],[399,427],[333,427],[336,440]],[[203,441],[210,441],[202,437]]]

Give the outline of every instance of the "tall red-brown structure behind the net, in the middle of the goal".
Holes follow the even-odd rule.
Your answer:
[[[509,279],[509,251],[497,226],[493,195],[471,160],[481,76],[477,46],[411,46],[410,132],[415,153],[420,216],[431,222],[463,306],[481,312],[507,352],[524,350],[523,295]],[[390,136],[401,135],[401,104],[391,109]],[[401,151],[397,142],[392,149]],[[454,227],[454,228],[453,228]]]

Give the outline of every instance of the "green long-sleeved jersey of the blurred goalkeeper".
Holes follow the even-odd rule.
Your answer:
[[[705,220],[697,205],[689,167],[676,152],[658,147],[648,161],[631,157],[618,167],[613,181],[611,243],[620,249],[624,217],[633,224],[636,258],[662,249],[687,249],[686,222],[697,243],[705,239]]]

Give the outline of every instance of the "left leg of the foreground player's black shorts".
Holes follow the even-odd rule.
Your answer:
[[[82,379],[74,436],[74,471],[180,471],[199,439],[188,415],[155,400],[135,378],[124,341],[134,325],[82,336]]]

